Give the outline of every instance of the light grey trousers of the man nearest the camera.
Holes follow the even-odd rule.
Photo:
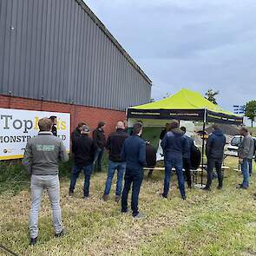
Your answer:
[[[60,207],[60,182],[58,175],[31,175],[31,210],[30,237],[38,235],[38,214],[42,201],[43,189],[47,190],[53,215],[53,226],[56,233],[62,231],[62,211]]]

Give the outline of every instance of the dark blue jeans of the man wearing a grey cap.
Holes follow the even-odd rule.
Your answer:
[[[71,174],[71,182],[69,187],[69,192],[74,192],[75,190],[75,183],[76,180],[81,172],[83,171],[84,174],[84,184],[83,184],[83,196],[89,196],[89,181],[90,176],[92,174],[93,166],[87,166],[87,167],[76,167],[74,166],[72,168],[72,174]]]

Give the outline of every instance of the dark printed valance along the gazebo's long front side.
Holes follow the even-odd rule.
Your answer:
[[[164,119],[200,121],[204,118],[204,109],[136,109],[128,108],[128,118]]]

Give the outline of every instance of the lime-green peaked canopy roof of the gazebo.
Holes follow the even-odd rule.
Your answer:
[[[234,115],[231,112],[225,111],[220,106],[209,102],[205,97],[198,92],[190,89],[181,89],[175,95],[171,95],[158,102],[132,107],[135,109],[203,109],[206,108],[213,112],[223,113],[226,115]]]

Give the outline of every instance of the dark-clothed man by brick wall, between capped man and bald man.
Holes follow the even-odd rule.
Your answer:
[[[102,157],[104,154],[104,148],[106,146],[105,128],[106,124],[104,121],[99,121],[98,127],[93,132],[93,138],[98,147],[97,154],[95,156],[95,170],[102,172]]]

